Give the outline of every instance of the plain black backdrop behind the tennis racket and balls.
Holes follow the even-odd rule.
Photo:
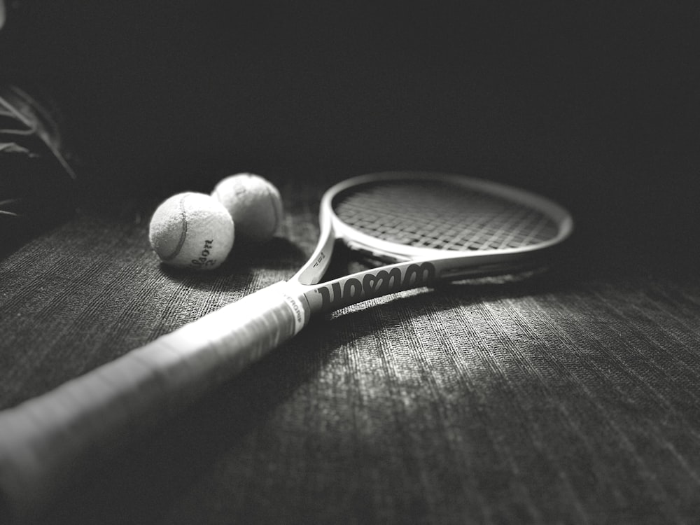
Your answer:
[[[2,71],[69,117],[87,202],[384,169],[554,197],[606,249],[696,236],[699,10],[659,2],[25,1]]]

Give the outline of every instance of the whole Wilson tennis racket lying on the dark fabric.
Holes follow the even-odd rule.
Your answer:
[[[314,316],[437,281],[542,267],[573,228],[566,210],[533,193],[414,172],[333,186],[321,200],[320,223],[314,253],[288,281],[2,412],[6,510],[22,516],[40,508],[81,470],[230,379]],[[337,242],[381,265],[324,280]]]

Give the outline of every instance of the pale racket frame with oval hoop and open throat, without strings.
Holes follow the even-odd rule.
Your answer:
[[[501,197],[510,202],[540,211],[556,223],[556,235],[528,246],[519,248],[485,249],[479,251],[454,251],[435,248],[421,248],[384,241],[360,232],[344,223],[333,211],[335,197],[345,190],[368,183],[390,181],[431,181],[449,183],[468,190],[476,190],[489,195]],[[545,197],[526,190],[505,186],[493,181],[484,181],[459,174],[435,172],[381,172],[365,174],[346,179],[329,188],[321,199],[319,207],[320,235],[318,244],[311,258],[295,274],[289,283],[297,290],[297,297],[303,297],[305,311],[311,314],[327,312],[349,304],[361,302],[387,293],[430,286],[435,281],[454,281],[496,274],[526,272],[549,265],[552,251],[563,243],[573,232],[573,218],[566,209]],[[341,241],[351,251],[365,255],[367,258],[384,262],[384,265],[356,272],[346,276],[323,281],[323,276],[332,261],[336,241]],[[424,278],[411,276],[416,266],[423,268]],[[393,270],[400,272],[401,286],[365,286],[372,284],[372,279],[386,277]],[[411,273],[412,272],[412,273]],[[393,275],[398,279],[398,273]],[[407,279],[407,276],[409,277]],[[323,281],[323,282],[322,282]],[[361,283],[359,295],[349,283]],[[344,290],[353,292],[351,297]],[[343,293],[342,300],[328,300]],[[382,293],[384,292],[384,293]],[[321,297],[321,300],[319,300]],[[308,319],[304,321],[304,325]]]

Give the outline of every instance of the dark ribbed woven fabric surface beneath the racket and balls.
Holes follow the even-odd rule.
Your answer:
[[[271,245],[161,267],[148,215],[80,214],[0,262],[10,407],[269,283],[314,246],[281,187]],[[631,266],[350,307],[95,465],[52,523],[691,523],[700,281]]]

